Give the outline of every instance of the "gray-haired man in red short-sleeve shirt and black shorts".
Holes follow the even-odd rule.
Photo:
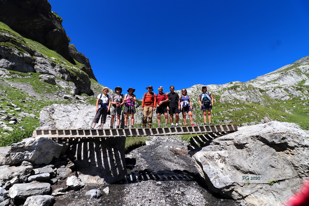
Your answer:
[[[158,88],[159,94],[157,94],[157,120],[159,127],[161,127],[161,114],[164,114],[165,117],[165,127],[167,127],[167,102],[168,102],[168,97],[166,93],[163,93],[163,87],[160,86]]]

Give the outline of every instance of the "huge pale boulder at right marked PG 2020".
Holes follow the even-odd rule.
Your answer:
[[[309,175],[308,138],[294,123],[269,122],[239,127],[189,154],[214,192],[276,206]]]

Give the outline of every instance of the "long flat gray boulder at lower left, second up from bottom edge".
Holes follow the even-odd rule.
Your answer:
[[[49,183],[24,183],[15,184],[9,190],[11,198],[26,200],[33,195],[46,195],[51,192]]]

